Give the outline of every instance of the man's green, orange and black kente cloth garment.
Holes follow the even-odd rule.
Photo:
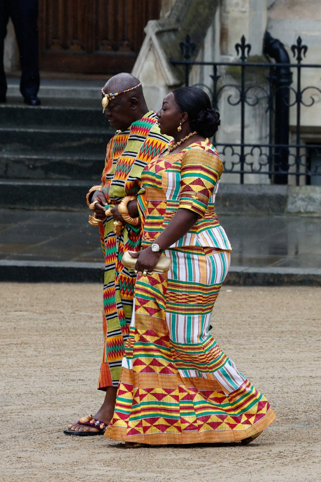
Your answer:
[[[162,136],[156,123],[155,112],[148,112],[132,124],[129,130],[116,134],[107,145],[105,167],[102,173],[102,192],[109,204],[116,204],[125,195],[141,190],[140,176],[145,165],[167,146],[169,139]],[[125,341],[129,335],[132,315],[134,270],[125,269],[121,263],[124,251],[140,250],[140,228],[124,228],[116,237],[113,218],[100,225],[100,242],[105,257],[103,292],[104,351],[101,363],[99,388],[104,383],[117,386]],[[107,365],[109,374],[106,376]],[[109,386],[108,385],[108,386]]]

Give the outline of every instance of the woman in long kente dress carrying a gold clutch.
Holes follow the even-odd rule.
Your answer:
[[[249,443],[275,413],[209,333],[232,251],[214,210],[223,165],[208,138],[220,116],[196,87],[168,94],[157,115],[174,141],[142,172],[135,313],[105,436],[127,445]],[[162,253],[171,259],[164,274],[153,272]]]

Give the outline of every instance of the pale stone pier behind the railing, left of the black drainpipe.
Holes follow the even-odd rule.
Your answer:
[[[207,31],[202,48],[199,52],[197,60],[202,62],[235,62],[237,60],[237,52],[235,44],[241,41],[242,35],[245,36],[246,42],[250,43],[252,48],[249,60],[262,58],[262,44],[264,32],[266,29],[266,0],[225,0],[221,2],[220,8],[216,12],[216,16],[212,25]],[[191,72],[190,84],[205,84],[212,86],[210,75],[212,67],[196,66]],[[220,67],[221,75],[219,87],[223,84],[240,85],[240,69],[238,67]],[[249,84],[266,84],[264,77],[256,74],[253,70],[248,77]],[[209,95],[210,90],[205,89]],[[251,91],[252,96],[258,96],[260,99],[258,105],[245,109],[245,140],[248,143],[267,143],[268,142],[268,125],[262,123],[261,120],[266,117],[266,99],[264,93],[259,89]],[[232,96],[235,101],[239,94],[237,88],[224,88],[220,97],[219,111],[221,114],[221,127],[216,137],[217,143],[229,144],[241,142],[241,126],[240,126],[240,105],[232,107],[228,104],[227,99]],[[265,153],[264,153],[265,154]],[[239,160],[238,153],[233,154],[231,149],[225,152],[224,160],[226,166],[230,167],[232,162]],[[255,151],[248,161],[253,162],[258,167],[259,151]],[[225,173],[223,182],[239,183],[239,174]],[[270,180],[266,175],[247,174],[244,182],[248,184],[268,184]]]

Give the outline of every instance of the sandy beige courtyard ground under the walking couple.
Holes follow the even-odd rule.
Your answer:
[[[213,334],[277,414],[261,437],[134,449],[62,433],[103,399],[102,286],[0,293],[0,481],[321,481],[321,288],[221,290]]]

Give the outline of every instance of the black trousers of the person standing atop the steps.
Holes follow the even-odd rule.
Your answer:
[[[3,43],[9,17],[15,27],[20,53],[20,92],[35,96],[39,90],[38,0],[0,0],[0,97],[7,91],[3,69]]]

